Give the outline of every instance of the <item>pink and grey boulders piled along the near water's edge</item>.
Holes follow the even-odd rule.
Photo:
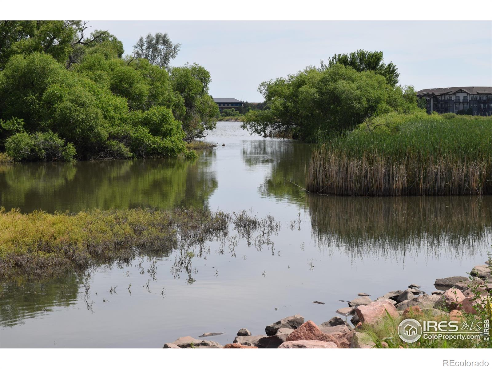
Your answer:
[[[390,291],[375,300],[371,300],[368,293],[360,292],[357,298],[347,301],[348,307],[336,311],[347,317],[345,320],[334,316],[319,326],[296,314],[267,325],[265,335],[253,336],[242,328],[234,341],[224,346],[213,340],[186,336],[165,343],[163,348],[373,348],[375,343],[361,331],[362,325],[377,326],[387,315],[399,319],[423,316],[427,312],[460,320],[463,312],[476,314],[477,304],[483,305],[476,294],[485,298],[492,294],[490,259],[485,265],[475,266],[470,277],[438,278],[434,287],[436,290],[427,294],[417,284],[410,284],[406,290]],[[351,324],[348,316],[351,316]],[[205,333],[200,337],[220,334]],[[381,344],[383,348],[388,347],[385,343]]]

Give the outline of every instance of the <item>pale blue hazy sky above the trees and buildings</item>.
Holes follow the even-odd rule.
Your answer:
[[[490,21],[91,21],[130,54],[140,35],[167,32],[182,44],[172,65],[197,62],[214,97],[262,101],[258,85],[335,53],[382,50],[400,84],[416,90],[492,86]]]

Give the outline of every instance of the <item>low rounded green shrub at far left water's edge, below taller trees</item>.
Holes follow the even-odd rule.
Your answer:
[[[16,133],[5,142],[7,154],[15,161],[71,161],[75,148],[57,134],[48,132]]]

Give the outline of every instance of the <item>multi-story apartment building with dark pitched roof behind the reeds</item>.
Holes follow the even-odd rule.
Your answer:
[[[427,100],[427,112],[492,116],[492,87],[446,87],[417,91],[417,97]]]

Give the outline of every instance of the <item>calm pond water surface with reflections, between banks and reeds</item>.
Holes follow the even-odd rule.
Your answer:
[[[435,278],[465,275],[490,250],[490,196],[308,194],[301,187],[309,145],[249,136],[225,122],[207,139],[219,147],[193,162],[0,165],[6,209],[196,207],[280,223],[262,246],[258,235],[248,246],[231,227],[193,257],[189,273],[173,269],[175,250],[90,277],[3,281],[0,347],[162,347],[205,332],[224,332],[210,339],[225,344],[240,328],[263,334],[296,313],[322,323],[358,292],[375,298],[417,283],[430,293]]]

